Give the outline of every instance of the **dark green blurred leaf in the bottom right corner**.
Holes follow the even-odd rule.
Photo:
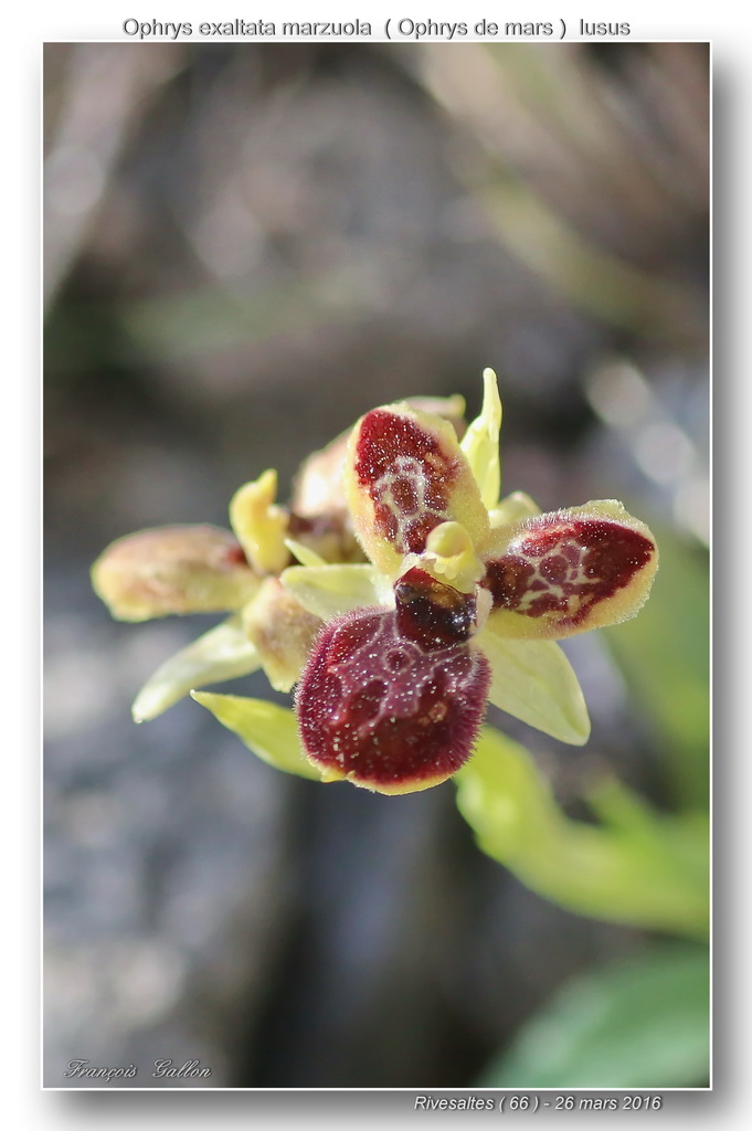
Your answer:
[[[709,1060],[708,952],[662,943],[569,982],[478,1087],[702,1087]]]

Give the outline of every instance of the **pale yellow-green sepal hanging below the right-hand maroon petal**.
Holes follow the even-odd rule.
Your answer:
[[[490,627],[475,638],[491,664],[489,699],[560,742],[581,746],[590,735],[582,689],[553,640],[508,640]]]

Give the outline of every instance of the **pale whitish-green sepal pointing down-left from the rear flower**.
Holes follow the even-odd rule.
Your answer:
[[[162,715],[192,688],[249,675],[260,666],[240,618],[217,624],[165,661],[139,691],[132,706],[137,723]]]

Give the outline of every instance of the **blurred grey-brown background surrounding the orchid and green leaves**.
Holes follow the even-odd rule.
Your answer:
[[[706,569],[707,45],[47,44],[44,141],[45,1083],[83,1057],[159,1087],[171,1057],[210,1087],[469,1086],[638,932],[482,856],[450,783],[293,779],[191,701],[135,726],[213,620],[116,624],[88,568],[226,525],[269,466],[284,498],[374,405],[474,415],[491,365],[504,490],[620,498]],[[568,650],[587,748],[492,720],[569,811],[604,765],[701,792],[619,649]]]

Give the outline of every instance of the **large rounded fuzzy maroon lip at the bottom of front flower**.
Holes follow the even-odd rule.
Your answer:
[[[348,613],[322,629],[299,684],[309,757],[374,787],[455,774],[469,758],[491,682],[467,642],[424,648],[395,610]]]

